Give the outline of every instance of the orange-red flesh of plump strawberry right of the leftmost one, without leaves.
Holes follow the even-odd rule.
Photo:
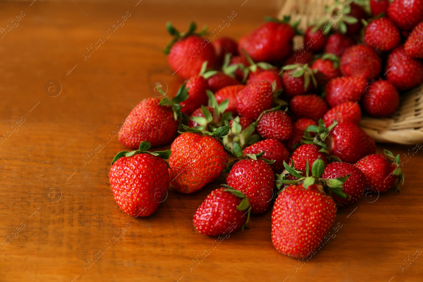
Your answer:
[[[190,194],[218,178],[228,156],[222,144],[210,136],[186,132],[170,146],[170,180],[176,190]]]

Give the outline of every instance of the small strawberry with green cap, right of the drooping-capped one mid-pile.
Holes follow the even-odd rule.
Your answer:
[[[324,87],[330,79],[341,76],[339,57],[334,54],[324,54],[321,58],[314,61],[311,69],[316,71],[314,77],[316,77],[319,87]]]

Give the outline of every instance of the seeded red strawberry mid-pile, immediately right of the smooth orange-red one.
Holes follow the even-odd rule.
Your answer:
[[[236,111],[246,118],[257,119],[264,110],[272,108],[273,86],[260,80],[247,85],[236,97]]]

